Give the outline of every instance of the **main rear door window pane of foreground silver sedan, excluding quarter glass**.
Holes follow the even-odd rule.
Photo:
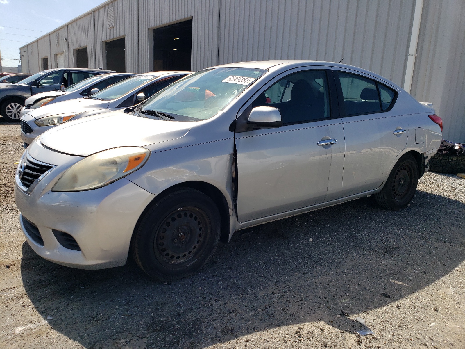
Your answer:
[[[345,72],[338,72],[338,74],[346,116],[381,111],[376,81]]]

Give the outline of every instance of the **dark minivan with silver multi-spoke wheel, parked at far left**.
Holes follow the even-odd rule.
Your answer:
[[[60,68],[47,69],[15,84],[0,85],[0,114],[7,121],[20,121],[20,111],[33,94],[58,91],[94,75],[116,73],[113,70]]]

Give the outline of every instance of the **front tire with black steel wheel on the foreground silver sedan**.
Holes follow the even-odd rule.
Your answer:
[[[131,244],[134,260],[159,281],[193,275],[213,256],[221,217],[207,195],[178,188],[155,201],[140,220]]]

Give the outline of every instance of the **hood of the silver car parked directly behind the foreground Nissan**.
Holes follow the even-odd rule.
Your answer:
[[[88,98],[77,98],[75,100],[61,101],[45,105],[37,109],[31,109],[27,114],[34,119],[42,119],[46,116],[64,113],[82,113],[96,109],[106,109],[110,101],[97,101]]]

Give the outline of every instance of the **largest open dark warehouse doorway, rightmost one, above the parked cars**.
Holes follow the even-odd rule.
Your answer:
[[[153,29],[153,70],[191,70],[192,20]]]

